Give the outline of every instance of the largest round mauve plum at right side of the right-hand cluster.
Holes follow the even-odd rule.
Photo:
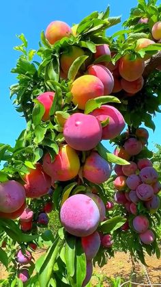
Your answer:
[[[140,177],[145,184],[155,184],[158,180],[158,173],[152,166],[146,166],[141,169]]]

